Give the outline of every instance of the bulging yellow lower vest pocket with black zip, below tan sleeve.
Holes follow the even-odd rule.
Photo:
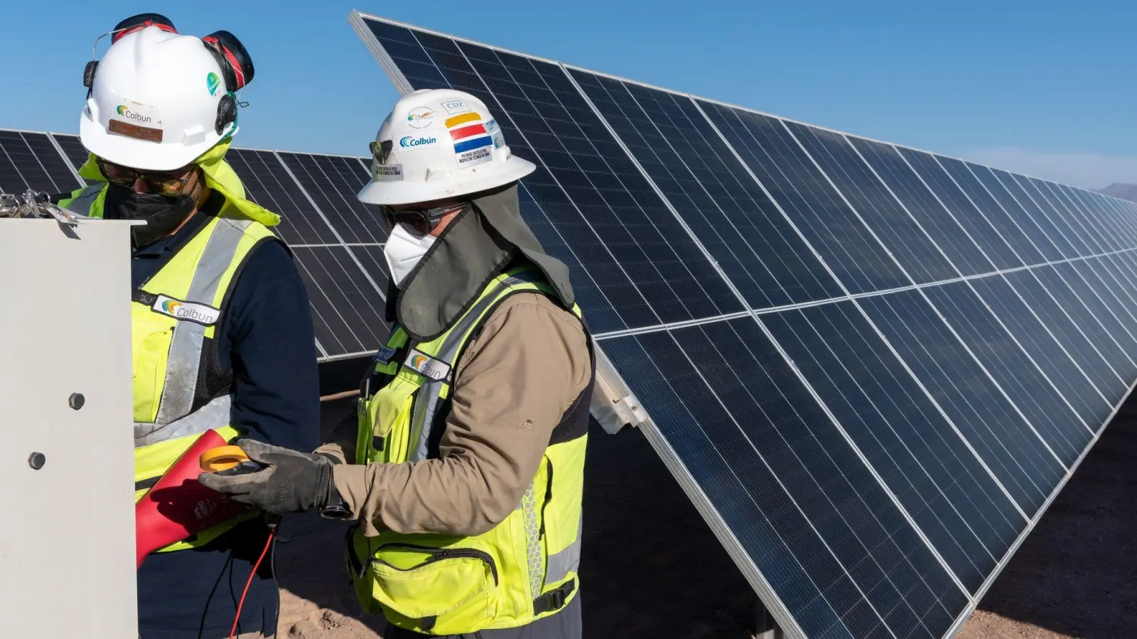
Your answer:
[[[497,614],[498,566],[474,539],[437,548],[391,542],[379,546],[364,569],[372,594],[399,617],[434,634],[470,632]]]

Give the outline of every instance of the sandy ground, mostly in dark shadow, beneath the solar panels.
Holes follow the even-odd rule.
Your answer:
[[[325,405],[325,430],[347,410]],[[642,434],[589,439],[586,637],[752,637],[755,596]],[[1135,495],[1130,401],[957,637],[1137,638]],[[381,638],[382,620],[360,614],[343,574],[343,528],[304,515],[281,533],[281,638]]]

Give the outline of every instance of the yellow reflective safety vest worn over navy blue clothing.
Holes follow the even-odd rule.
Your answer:
[[[106,186],[78,189],[59,205],[102,217]],[[258,222],[226,217],[227,210],[229,202],[132,296],[135,501],[201,433],[214,429],[230,441],[242,434],[230,424],[232,380],[213,370],[215,332],[246,258],[260,242],[279,240]],[[157,551],[202,546],[255,516],[250,511]]]

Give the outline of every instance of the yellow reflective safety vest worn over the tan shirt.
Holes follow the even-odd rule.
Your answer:
[[[437,457],[434,430],[449,410],[451,367],[493,308],[518,292],[554,296],[539,272],[514,269],[491,280],[438,338],[416,343],[401,327],[391,331],[364,380],[357,464]],[[572,312],[581,316],[576,305]],[[571,601],[579,587],[590,390],[591,382],[565,412],[521,503],[492,530],[366,537],[355,528],[347,563],[364,609],[408,630],[460,634],[525,625]]]

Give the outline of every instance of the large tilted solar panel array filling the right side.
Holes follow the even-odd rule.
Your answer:
[[[350,22],[538,165],[525,219],[791,637],[954,634],[1131,389],[1131,202]]]

